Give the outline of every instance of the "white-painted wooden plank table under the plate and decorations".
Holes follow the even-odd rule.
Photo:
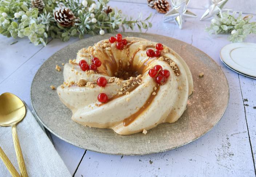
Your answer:
[[[130,2],[111,1],[112,7],[124,14],[144,16],[153,13],[153,27],[143,32],[173,37],[187,42],[207,53],[224,71],[230,88],[227,111],[221,121],[202,138],[186,146],[146,156],[115,156],[87,151],[52,135],[54,146],[75,177],[93,176],[256,176],[256,80],[238,75],[221,63],[220,49],[227,45],[227,35],[210,37],[205,31],[209,21],[199,21],[204,13],[200,0],[192,0],[190,10],[198,15],[188,19],[183,30],[175,24],[163,23],[163,15],[149,8],[146,0]],[[255,0],[243,4],[230,0],[231,8],[256,13]],[[249,5],[248,5],[249,4]],[[256,21],[256,18],[254,18]],[[138,30],[135,30],[138,31]],[[88,36],[86,36],[88,37]],[[30,85],[37,69],[56,51],[76,42],[54,39],[46,47],[35,47],[28,39],[12,39],[0,36],[0,93],[12,92],[31,108]],[[16,42],[16,43],[15,43]],[[246,42],[256,42],[250,35]],[[207,74],[207,73],[206,73]]]

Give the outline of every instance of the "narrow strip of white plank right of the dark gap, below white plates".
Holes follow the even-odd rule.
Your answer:
[[[256,162],[256,80],[239,75],[252,153]],[[255,166],[256,168],[256,166]]]

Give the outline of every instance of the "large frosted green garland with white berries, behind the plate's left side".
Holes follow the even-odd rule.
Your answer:
[[[85,2],[86,1],[86,2]],[[30,0],[0,1],[0,34],[7,37],[27,36],[35,45],[47,44],[49,37],[68,41],[70,37],[83,38],[85,34],[101,34],[115,32],[119,28],[148,29],[152,24],[148,21],[151,14],[142,19],[126,17],[121,10],[111,9],[106,13],[109,0],[44,0],[45,7],[39,11],[31,7]],[[96,4],[97,6],[95,7]],[[92,8],[92,6],[94,8]],[[63,27],[54,18],[54,10],[65,7],[75,16],[73,26]]]

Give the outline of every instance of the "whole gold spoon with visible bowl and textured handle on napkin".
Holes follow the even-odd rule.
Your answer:
[[[16,157],[19,164],[21,177],[28,177],[25,162],[20,148],[16,124],[19,123],[26,114],[24,103],[19,97],[12,93],[3,93],[0,95],[0,125],[12,126],[12,139],[16,151]]]

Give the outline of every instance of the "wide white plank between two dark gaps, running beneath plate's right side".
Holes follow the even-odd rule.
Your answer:
[[[203,10],[193,11],[203,13]],[[121,156],[87,151],[75,176],[255,176],[238,76],[219,59],[221,47],[229,43],[227,35],[210,37],[204,31],[205,22],[198,18],[188,19],[184,29],[179,30],[175,24],[163,23],[161,17],[155,15],[153,28],[147,33],[191,43],[220,64],[231,92],[223,119],[199,140],[165,153],[121,159]],[[255,37],[247,39],[253,40]]]

